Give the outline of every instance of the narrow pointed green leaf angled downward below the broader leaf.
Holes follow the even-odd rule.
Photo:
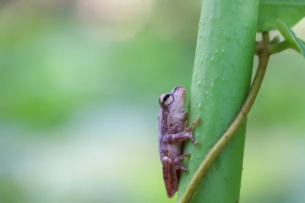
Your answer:
[[[282,20],[277,20],[278,29],[281,32],[282,36],[287,40],[291,45],[297,48],[305,58],[305,42],[301,39],[298,39],[290,27],[284,23]]]

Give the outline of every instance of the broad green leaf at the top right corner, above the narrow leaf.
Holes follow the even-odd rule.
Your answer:
[[[261,32],[277,29],[277,19],[282,19],[292,27],[304,16],[304,0],[260,0],[256,30]]]

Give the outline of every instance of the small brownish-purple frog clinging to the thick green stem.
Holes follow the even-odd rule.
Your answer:
[[[173,197],[178,191],[180,170],[187,172],[181,160],[190,154],[182,155],[183,141],[190,139],[198,145],[192,130],[200,122],[196,118],[187,128],[188,113],[185,112],[186,90],[183,86],[175,87],[170,93],[159,97],[160,112],[158,117],[159,156],[163,167],[163,180],[167,196]]]

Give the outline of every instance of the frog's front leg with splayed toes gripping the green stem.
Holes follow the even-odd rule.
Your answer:
[[[198,145],[198,141],[196,141],[193,137],[192,130],[200,121],[200,118],[196,118],[193,124],[190,127],[186,128],[184,131],[178,132],[176,134],[165,134],[163,142],[165,144],[172,145],[190,139],[194,143],[194,145]]]

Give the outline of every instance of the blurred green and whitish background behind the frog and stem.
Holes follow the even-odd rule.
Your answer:
[[[0,202],[174,202],[158,97],[190,91],[201,1],[0,6]],[[305,39],[304,20],[293,30]],[[240,202],[305,202],[304,87],[301,55],[271,57],[248,119]]]

